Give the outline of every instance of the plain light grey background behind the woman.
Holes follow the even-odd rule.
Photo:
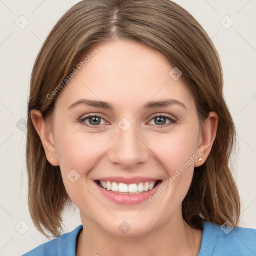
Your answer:
[[[0,0],[2,256],[21,255],[47,241],[35,229],[28,212],[26,129],[23,122],[26,120],[30,74],[36,55],[57,20],[77,2],[78,0]],[[256,228],[256,0],[175,2],[199,21],[219,52],[224,73],[225,98],[239,137],[234,176],[242,200],[241,226]],[[20,17],[22,15],[25,18]],[[29,24],[23,28],[26,19]],[[232,20],[234,24],[226,29]],[[64,214],[65,232],[73,230],[80,223],[77,209]],[[21,234],[22,232],[25,233]]]

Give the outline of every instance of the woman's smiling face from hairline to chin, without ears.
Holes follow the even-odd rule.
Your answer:
[[[98,53],[90,54],[95,48]],[[131,236],[182,218],[182,200],[194,166],[201,164],[202,137],[180,73],[171,71],[174,66],[162,53],[136,42],[96,45],[88,54],[94,57],[76,68],[56,101],[55,151],[49,149],[81,219]],[[156,180],[161,182],[145,191]]]

